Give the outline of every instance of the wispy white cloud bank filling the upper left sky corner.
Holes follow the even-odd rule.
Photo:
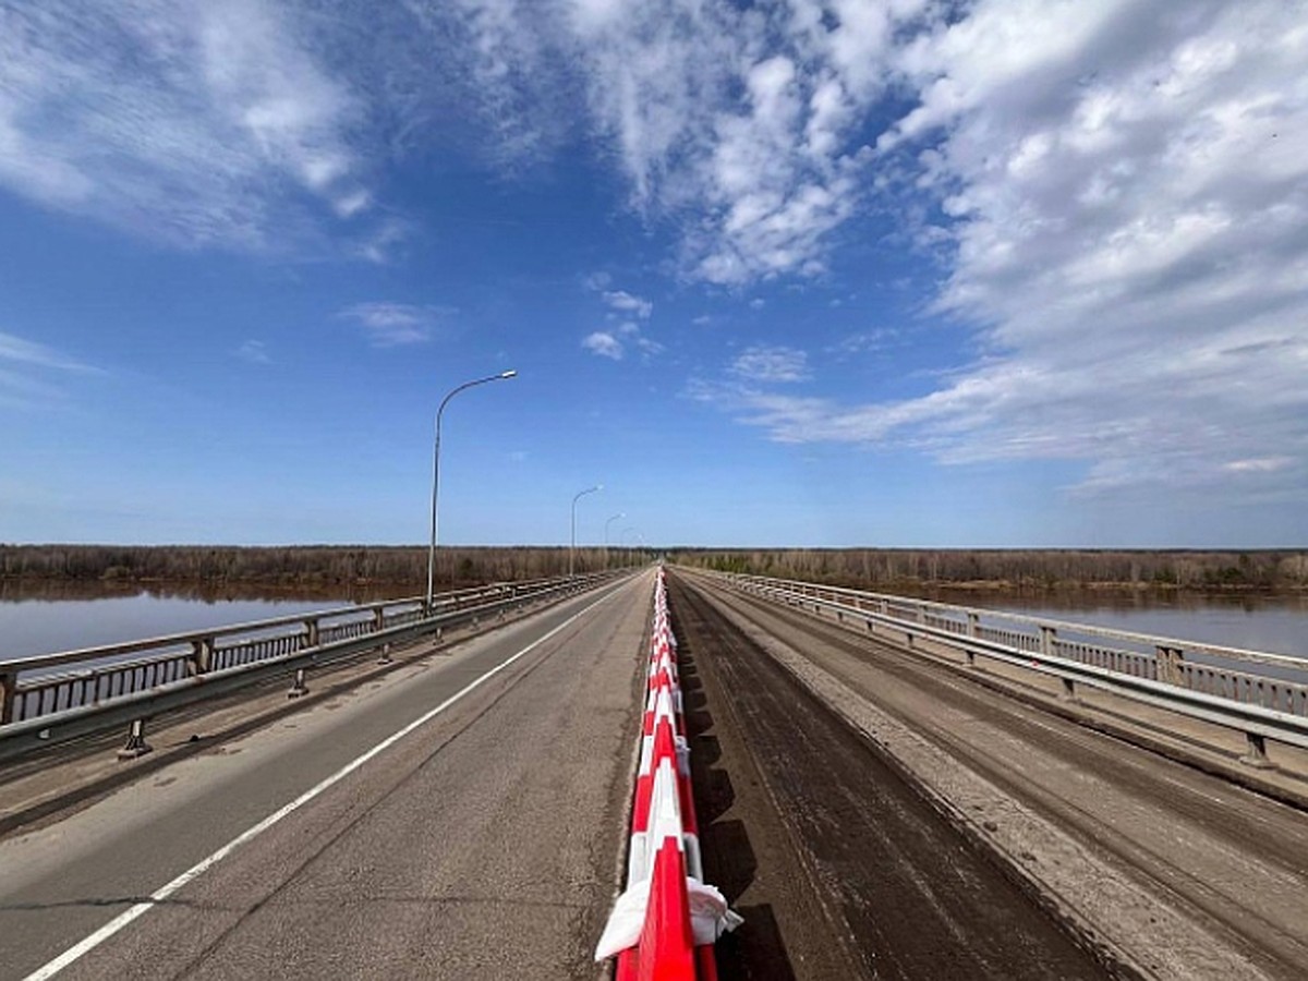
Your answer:
[[[332,212],[357,218],[361,106],[292,14],[263,0],[7,8],[0,186],[184,247],[281,249]]]

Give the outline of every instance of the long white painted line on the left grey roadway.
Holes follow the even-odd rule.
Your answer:
[[[624,583],[624,585],[627,585],[627,583]],[[90,937],[88,937],[86,939],[81,940],[80,943],[69,947],[67,951],[64,951],[63,954],[60,954],[58,957],[55,957],[50,963],[47,963],[43,967],[38,968],[33,973],[27,974],[27,977],[25,977],[24,981],[43,981],[43,978],[54,977],[60,971],[63,971],[64,968],[67,968],[69,964],[72,964],[76,960],[78,960],[80,957],[85,956],[90,951],[95,950],[99,944],[102,944],[110,937],[112,937],[119,930],[122,930],[124,926],[127,926],[128,923],[131,923],[139,916],[141,916],[143,913],[145,913],[146,910],[149,910],[152,906],[154,906],[158,903],[162,903],[169,896],[171,896],[174,892],[177,892],[183,886],[186,886],[188,882],[191,882],[192,879],[196,879],[200,875],[203,875],[207,870],[209,870],[213,866],[216,866],[218,862],[221,862],[224,858],[226,858],[228,855],[230,855],[233,852],[235,852],[242,845],[245,845],[249,841],[252,841],[254,838],[256,838],[260,835],[263,835],[266,831],[268,831],[268,828],[271,828],[273,824],[276,824],[277,821],[280,821],[286,815],[289,815],[289,814],[292,814],[294,811],[298,811],[301,807],[303,807],[305,804],[307,804],[315,797],[318,797],[319,794],[322,794],[324,790],[327,790],[328,787],[334,786],[335,783],[339,783],[340,781],[343,781],[345,777],[348,777],[351,773],[353,773],[354,770],[357,770],[360,766],[362,766],[365,763],[368,763],[369,760],[371,760],[378,753],[385,752],[390,747],[395,746],[395,743],[398,743],[400,739],[403,739],[404,736],[407,736],[415,729],[425,726],[433,718],[436,718],[442,712],[445,712],[447,708],[450,708],[451,705],[454,705],[454,702],[456,702],[464,695],[467,695],[468,692],[471,692],[473,688],[477,688],[483,681],[485,681],[487,679],[493,678],[494,675],[500,674],[506,667],[509,667],[509,664],[511,664],[513,662],[515,662],[518,658],[523,657],[525,654],[531,653],[532,650],[535,650],[536,647],[539,647],[542,644],[544,644],[545,641],[548,641],[551,637],[553,637],[556,633],[559,633],[560,630],[565,629],[566,627],[570,627],[578,619],[583,617],[586,613],[589,613],[591,610],[594,610],[595,607],[598,607],[600,603],[606,603],[607,600],[612,599],[615,595],[617,595],[617,593],[619,593],[619,590],[615,589],[612,593],[608,593],[604,596],[600,596],[599,599],[596,599],[594,603],[591,603],[590,606],[585,607],[583,610],[577,611],[576,613],[573,613],[572,616],[569,616],[566,620],[564,620],[561,624],[559,624],[559,627],[556,627],[555,629],[552,629],[549,633],[545,633],[545,634],[538,637],[536,640],[534,640],[531,644],[528,644],[526,647],[523,647],[522,650],[519,650],[517,654],[514,654],[508,661],[500,662],[498,664],[496,664],[493,668],[490,668],[489,671],[487,671],[484,675],[481,675],[476,680],[470,681],[468,684],[466,684],[463,688],[460,688],[458,692],[455,692],[454,695],[451,695],[449,698],[446,698],[445,701],[442,701],[439,705],[437,705],[434,709],[432,709],[426,714],[416,718],[413,722],[409,722],[407,726],[404,726],[404,729],[399,730],[398,732],[386,736],[386,739],[383,739],[382,742],[379,742],[377,746],[374,746],[371,749],[369,749],[368,752],[365,752],[362,756],[358,756],[358,757],[351,760],[344,766],[341,766],[339,770],[336,770],[335,773],[332,773],[330,777],[327,777],[326,780],[323,780],[320,783],[317,783],[315,786],[313,786],[309,790],[306,790],[303,794],[301,794],[300,797],[297,797],[294,800],[292,800],[285,807],[281,807],[277,811],[273,811],[267,818],[264,818],[262,821],[259,821],[258,824],[255,824],[252,828],[250,828],[246,832],[243,832],[242,835],[234,837],[232,841],[229,841],[226,845],[224,845],[222,848],[220,848],[212,855],[209,855],[208,858],[203,859],[198,865],[191,866],[190,869],[187,869],[184,872],[182,872],[179,876],[177,876],[167,886],[162,886],[158,889],[156,889],[150,895],[150,897],[148,900],[145,900],[143,903],[137,903],[136,905],[131,906],[129,909],[124,910],[123,913],[119,913],[116,917],[114,917],[112,920],[110,920],[107,923],[105,923],[105,926],[99,927],[99,930],[97,930],[95,933],[93,933]]]

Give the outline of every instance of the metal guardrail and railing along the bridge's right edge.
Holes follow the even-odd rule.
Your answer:
[[[891,628],[909,647],[931,640],[969,666],[981,657],[1054,676],[1067,698],[1086,685],[1241,731],[1250,765],[1269,765],[1266,739],[1308,748],[1308,661],[1299,658],[794,579],[693,574],[869,632]]]

